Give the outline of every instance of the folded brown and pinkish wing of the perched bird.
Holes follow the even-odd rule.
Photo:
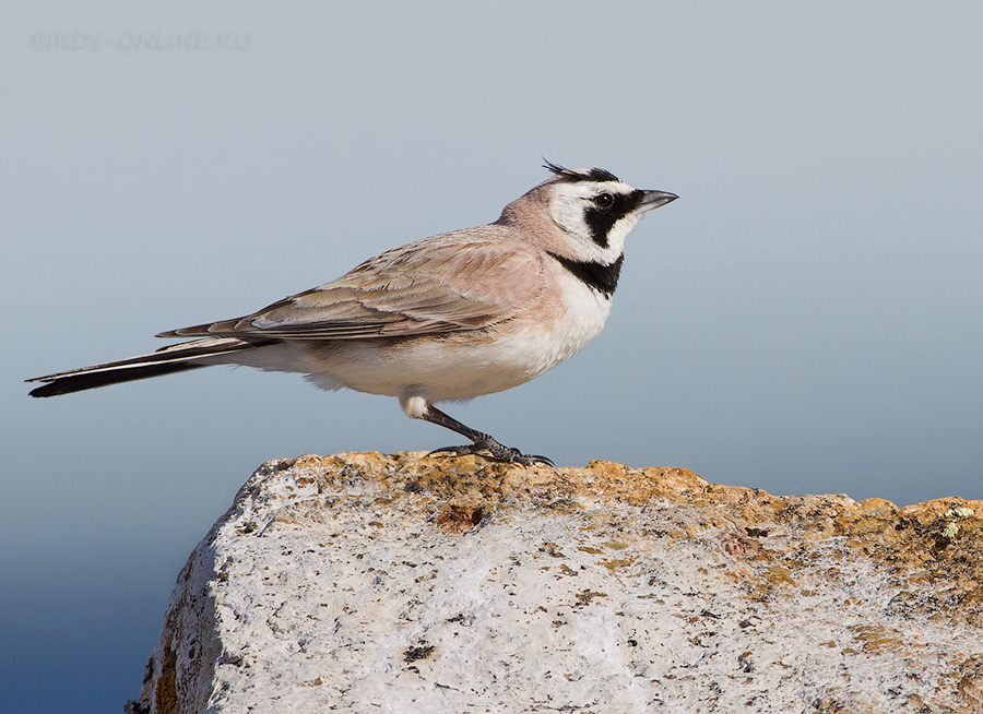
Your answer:
[[[395,337],[477,330],[508,320],[543,290],[540,253],[458,231],[366,261],[342,277],[234,320],[162,337]]]

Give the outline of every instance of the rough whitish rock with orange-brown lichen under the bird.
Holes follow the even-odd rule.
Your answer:
[[[130,712],[983,712],[983,501],[682,468],[264,464]]]

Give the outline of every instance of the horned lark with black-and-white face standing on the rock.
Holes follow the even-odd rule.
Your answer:
[[[324,390],[395,396],[406,416],[472,442],[430,454],[552,466],[436,404],[518,386],[583,348],[611,312],[625,238],[678,197],[633,189],[600,168],[543,167],[549,177],[494,223],[388,250],[251,314],[157,335],[194,340],[29,379],[43,383],[31,396],[245,365],[299,372]]]

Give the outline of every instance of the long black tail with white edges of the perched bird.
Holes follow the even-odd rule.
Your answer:
[[[182,342],[177,345],[162,347],[157,352],[129,359],[120,359],[105,365],[83,367],[68,372],[47,374],[28,379],[28,382],[44,382],[42,386],[32,390],[31,396],[57,396],[81,392],[107,384],[118,384],[137,379],[159,377],[173,372],[183,372],[189,369],[208,367],[221,364],[223,355],[252,349],[272,344],[275,340],[246,341],[235,337],[206,337],[192,342]]]

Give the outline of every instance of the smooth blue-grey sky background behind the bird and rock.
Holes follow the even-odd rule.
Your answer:
[[[246,368],[23,380],[494,221],[542,157],[682,198],[629,237],[597,340],[452,415],[562,466],[983,497],[983,4],[2,14],[0,711],[135,699],[178,571],[262,462],[453,441]]]

